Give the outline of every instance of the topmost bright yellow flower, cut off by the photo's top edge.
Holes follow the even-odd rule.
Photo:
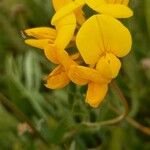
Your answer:
[[[52,24],[64,16],[76,11],[87,4],[98,13],[107,14],[115,18],[128,18],[133,15],[127,6],[129,0],[75,0],[62,7],[52,18]]]

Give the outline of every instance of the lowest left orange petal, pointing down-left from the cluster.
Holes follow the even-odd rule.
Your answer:
[[[47,78],[46,87],[50,89],[60,89],[69,84],[70,79],[62,66],[55,68]]]

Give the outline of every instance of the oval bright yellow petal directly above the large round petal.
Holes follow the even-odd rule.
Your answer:
[[[133,15],[133,11],[126,5],[122,5],[122,4],[99,5],[94,10],[99,13],[110,15],[115,18],[128,18]]]

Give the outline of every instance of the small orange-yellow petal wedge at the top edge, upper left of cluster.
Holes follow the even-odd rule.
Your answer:
[[[58,11],[59,9],[61,9],[63,6],[65,6],[70,2],[72,2],[72,0],[52,0],[53,7],[56,11]]]

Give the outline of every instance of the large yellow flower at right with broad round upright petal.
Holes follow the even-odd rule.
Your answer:
[[[86,79],[88,90],[86,102],[97,107],[104,99],[109,82],[120,70],[117,57],[127,55],[132,39],[128,29],[108,15],[93,15],[80,28],[77,47],[86,64],[92,67],[71,66],[69,77]]]

